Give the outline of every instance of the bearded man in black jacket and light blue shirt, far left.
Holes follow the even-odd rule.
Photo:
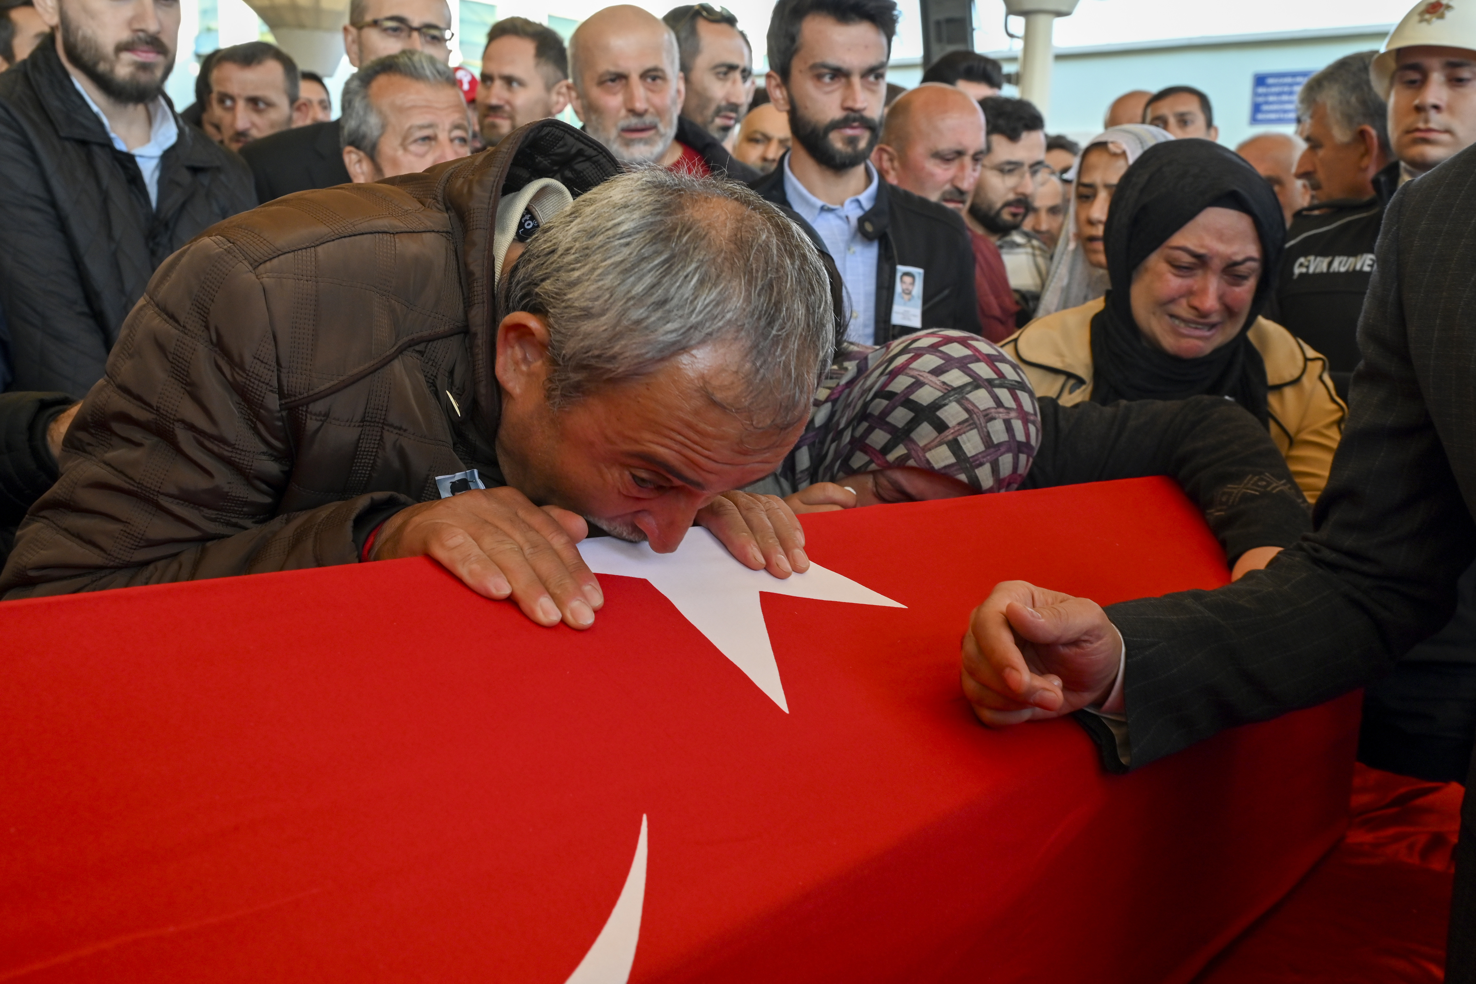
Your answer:
[[[233,153],[164,99],[174,0],[35,0],[53,40],[0,75],[0,308],[13,389],[86,395],[149,276],[255,205]]]

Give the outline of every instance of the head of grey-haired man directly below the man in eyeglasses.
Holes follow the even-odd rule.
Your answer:
[[[425,52],[369,62],[344,83],[344,167],[356,184],[413,174],[471,153],[456,75]]]

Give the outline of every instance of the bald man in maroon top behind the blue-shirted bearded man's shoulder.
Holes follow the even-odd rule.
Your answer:
[[[979,103],[953,86],[924,83],[887,109],[871,162],[884,180],[946,205],[962,218],[987,149]],[[970,230],[968,238],[974,248],[979,322],[984,338],[1002,342],[1014,333],[1018,310],[1010,277],[999,248],[987,236]]]

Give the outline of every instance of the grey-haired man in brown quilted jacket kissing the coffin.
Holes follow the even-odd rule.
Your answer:
[[[731,490],[799,440],[834,336],[822,255],[778,208],[618,174],[556,121],[308,192],[152,280],[0,590],[427,555],[583,628],[589,524],[672,550],[700,522],[785,577],[809,564],[793,512]]]

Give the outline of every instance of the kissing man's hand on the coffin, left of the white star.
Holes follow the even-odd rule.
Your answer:
[[[589,628],[605,603],[574,546],[589,524],[558,506],[534,506],[517,488],[474,488],[390,516],[372,559],[434,558],[486,597],[512,597],[540,626]]]

